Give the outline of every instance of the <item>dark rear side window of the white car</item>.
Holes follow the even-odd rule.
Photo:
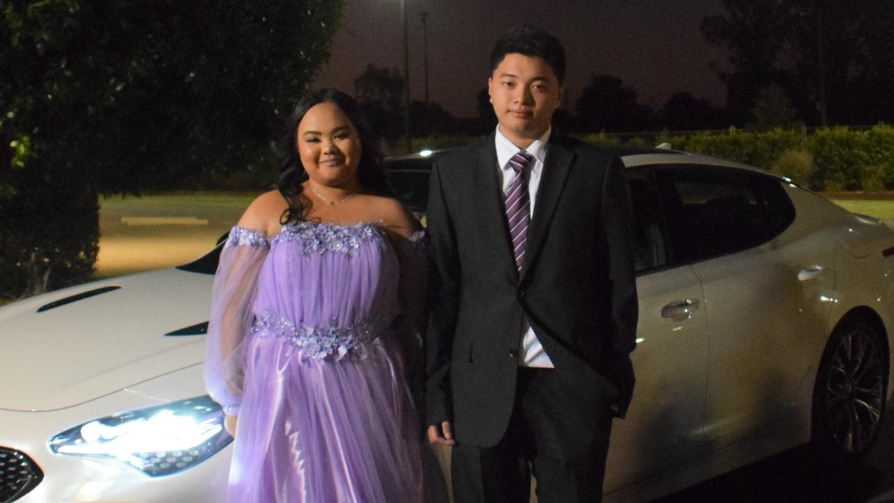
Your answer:
[[[655,176],[677,263],[760,246],[795,219],[782,182],[769,175],[716,166],[668,166]]]

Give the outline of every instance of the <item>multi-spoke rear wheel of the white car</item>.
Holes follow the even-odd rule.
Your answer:
[[[888,363],[881,334],[854,318],[832,332],[814,389],[813,443],[823,461],[853,463],[881,430]]]

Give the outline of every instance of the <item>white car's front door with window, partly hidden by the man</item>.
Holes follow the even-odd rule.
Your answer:
[[[636,220],[637,386],[611,432],[605,490],[684,465],[704,454],[707,317],[701,285],[678,264],[646,169],[628,170]]]

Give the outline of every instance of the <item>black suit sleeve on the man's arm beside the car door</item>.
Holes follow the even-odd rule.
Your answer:
[[[611,346],[616,353],[618,367],[614,369],[616,382],[621,387],[616,413],[626,413],[635,382],[630,352],[637,348],[637,277],[634,272],[634,219],[624,164],[615,155],[605,171],[603,180],[602,214],[609,251],[609,281],[611,282],[611,318],[615,325]]]

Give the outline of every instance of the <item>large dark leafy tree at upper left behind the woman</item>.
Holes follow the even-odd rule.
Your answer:
[[[0,0],[0,295],[89,276],[99,193],[273,163],[271,139],[340,12],[325,0]]]

